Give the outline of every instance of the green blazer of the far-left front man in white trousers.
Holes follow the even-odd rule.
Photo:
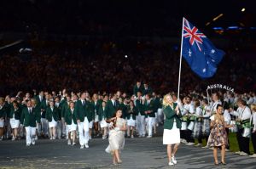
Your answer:
[[[20,117],[20,124],[24,124],[25,127],[37,127],[36,121],[40,121],[40,116],[32,108],[32,112],[29,113],[28,108],[24,108]]]

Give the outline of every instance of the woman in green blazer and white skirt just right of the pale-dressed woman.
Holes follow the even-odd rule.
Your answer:
[[[131,138],[134,138],[133,136],[133,129],[135,127],[136,123],[136,115],[138,114],[137,107],[135,107],[134,103],[131,101],[129,106],[128,106],[128,111],[127,111],[127,136]]]

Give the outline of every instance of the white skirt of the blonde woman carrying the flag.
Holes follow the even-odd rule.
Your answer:
[[[176,122],[173,123],[171,130],[164,129],[163,144],[179,144],[180,143],[180,131],[176,127]]]

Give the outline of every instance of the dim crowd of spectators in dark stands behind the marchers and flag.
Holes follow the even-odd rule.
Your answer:
[[[183,59],[181,91],[206,92],[207,85],[221,83],[236,92],[254,91],[255,62],[235,49],[225,49],[215,76],[202,80]],[[140,80],[156,93],[177,91],[179,51],[169,43],[151,41],[32,42],[32,53],[18,51],[0,58],[0,93],[32,89],[131,93]]]

